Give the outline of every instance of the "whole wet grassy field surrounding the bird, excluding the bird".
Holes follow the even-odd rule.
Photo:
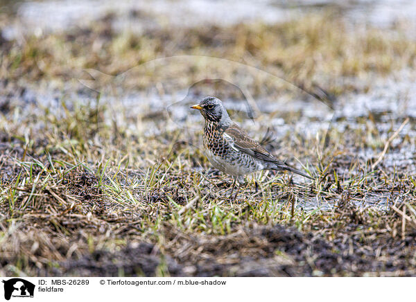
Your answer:
[[[1,3],[1,276],[415,276],[407,15],[273,4],[285,18],[200,26],[172,21],[186,3],[83,22],[67,4],[53,26]],[[263,172],[229,198],[189,111],[207,94],[315,181]]]

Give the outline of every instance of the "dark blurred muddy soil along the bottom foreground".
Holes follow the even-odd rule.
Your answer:
[[[354,214],[352,214],[354,215]],[[327,226],[328,227],[328,226]],[[416,231],[394,239],[349,223],[332,240],[293,227],[252,225],[227,236],[164,229],[166,245],[132,242],[61,262],[48,276],[416,276]],[[362,229],[362,231],[356,231]],[[162,269],[162,271],[160,270]],[[165,271],[163,271],[165,269]]]

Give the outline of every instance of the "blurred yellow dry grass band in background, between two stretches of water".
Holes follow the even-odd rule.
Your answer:
[[[415,66],[416,43],[406,37],[406,24],[388,33],[347,28],[334,12],[270,26],[162,28],[143,35],[114,32],[112,18],[108,15],[92,28],[6,43],[0,75],[65,81],[82,78],[85,68],[117,74],[159,57],[208,55],[257,66],[306,86],[318,82],[340,94],[357,89],[344,77],[365,81],[374,73]]]

